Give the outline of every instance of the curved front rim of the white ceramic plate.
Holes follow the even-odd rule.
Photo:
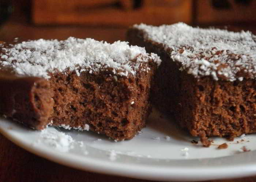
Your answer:
[[[3,123],[11,124],[12,126],[18,127],[18,129],[26,129],[20,126],[19,123],[12,122],[10,120],[3,120],[0,118],[0,133],[4,135],[8,140],[13,142],[15,145],[33,153],[39,157],[46,158],[49,161],[59,163],[64,166],[72,167],[79,170],[90,171],[94,173],[101,173],[107,175],[116,175],[122,177],[130,177],[137,179],[157,180],[157,181],[204,181],[204,180],[216,180],[216,179],[227,179],[227,178],[240,178],[247,177],[256,174],[256,161],[251,163],[240,163],[239,165],[233,166],[231,163],[219,166],[209,166],[202,168],[199,166],[190,167],[185,166],[148,166],[143,163],[132,163],[125,164],[116,161],[104,161],[101,159],[89,158],[84,156],[81,161],[80,156],[76,156],[71,153],[61,153],[50,150],[50,148],[34,146],[28,142],[16,137],[7,127],[4,127]],[[16,129],[16,128],[15,128]],[[10,131],[9,131],[10,130]],[[15,131],[16,133],[17,131]],[[21,132],[21,131],[20,131]],[[31,131],[36,132],[36,131]],[[58,155],[58,154],[62,155]],[[256,154],[256,151],[250,151],[251,154]],[[247,154],[249,154],[247,153]],[[236,154],[247,155],[246,153]],[[256,156],[256,155],[255,155]],[[227,157],[218,157],[214,160],[222,160]],[[177,161],[197,161],[197,160],[213,160],[213,158],[206,159],[177,159]],[[256,157],[255,157],[256,159]],[[170,159],[170,161],[175,161]],[[217,168],[219,167],[219,168]],[[200,175],[198,173],[200,171]],[[124,173],[125,172],[125,173]]]

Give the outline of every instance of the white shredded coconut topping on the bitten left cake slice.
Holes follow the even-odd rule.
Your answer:
[[[78,76],[83,71],[90,73],[113,68],[113,74],[135,75],[143,62],[152,59],[158,65],[156,54],[147,54],[145,49],[129,46],[128,42],[109,44],[94,39],[31,40],[4,47],[0,44],[0,66],[11,67],[18,75],[50,78],[49,72],[64,72],[68,69]],[[135,60],[135,61],[131,61]]]

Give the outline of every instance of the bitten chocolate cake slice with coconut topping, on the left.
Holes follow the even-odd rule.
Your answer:
[[[118,141],[145,126],[156,54],[74,37],[1,43],[0,52],[1,114],[37,130],[90,129]]]

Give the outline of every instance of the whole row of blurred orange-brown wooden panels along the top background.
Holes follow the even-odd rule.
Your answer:
[[[35,24],[256,22],[255,0],[32,0],[31,4]]]

